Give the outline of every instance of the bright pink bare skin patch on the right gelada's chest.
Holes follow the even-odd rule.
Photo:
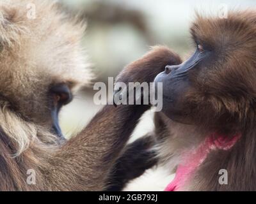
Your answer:
[[[164,191],[182,191],[186,182],[191,178],[191,175],[195,173],[196,168],[204,162],[211,150],[228,150],[233,147],[240,137],[241,134],[239,133],[234,135],[232,140],[228,140],[226,139],[227,137],[223,135],[212,133],[211,136],[207,137],[205,141],[200,144],[198,149],[184,154],[184,162],[178,166],[175,178]]]

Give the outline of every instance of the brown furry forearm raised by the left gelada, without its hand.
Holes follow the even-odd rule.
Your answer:
[[[51,189],[103,190],[120,151],[148,108],[146,105],[104,106],[79,135],[50,159],[53,167],[47,174],[51,177]]]

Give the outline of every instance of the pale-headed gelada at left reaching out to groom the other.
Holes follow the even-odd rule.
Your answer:
[[[58,112],[92,77],[84,69],[83,30],[54,1],[1,1],[0,191],[106,189],[116,159],[150,108],[106,105],[81,133],[64,140]],[[152,53],[149,64],[178,64],[168,50]]]

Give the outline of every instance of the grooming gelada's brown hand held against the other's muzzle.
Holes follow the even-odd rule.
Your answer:
[[[128,85],[130,82],[138,82],[136,83],[137,85],[147,83],[149,86],[149,83],[153,82],[154,78],[164,71],[165,66],[177,65],[180,63],[181,59],[179,55],[172,52],[169,48],[164,46],[153,47],[152,50],[141,57],[141,59],[138,59],[126,66],[116,77],[114,87],[114,105],[116,105],[116,99],[122,101],[123,99],[126,100],[128,96],[131,97],[131,91],[132,94],[134,94],[134,100],[136,100],[137,96],[134,93],[134,89],[129,89]],[[120,87],[119,82],[122,82],[122,84],[125,85],[125,91],[121,91],[123,87]]]

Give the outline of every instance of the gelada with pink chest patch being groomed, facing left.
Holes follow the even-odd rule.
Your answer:
[[[150,82],[156,77],[163,83],[163,110],[155,115],[152,135],[158,162],[176,170],[166,191],[255,191],[256,13],[196,15],[191,35],[195,53],[187,61],[166,64],[164,71],[157,63],[150,64],[153,69],[128,67],[118,80]],[[130,153],[122,164],[128,169],[150,159],[138,158],[138,146],[130,147],[135,162]],[[125,179],[118,179],[124,186]]]

